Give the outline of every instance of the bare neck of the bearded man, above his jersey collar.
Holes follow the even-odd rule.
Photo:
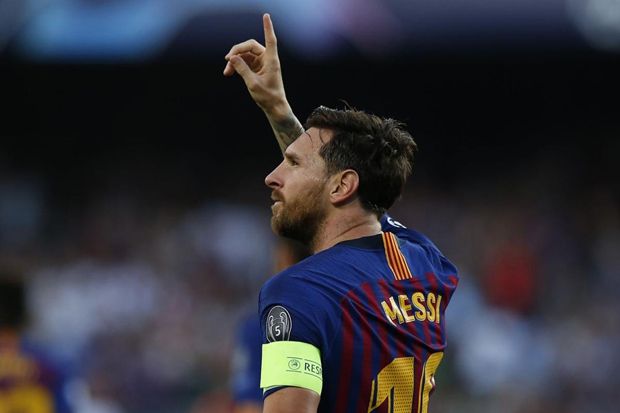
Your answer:
[[[372,213],[342,213],[328,216],[321,224],[315,237],[309,244],[312,253],[331,248],[338,242],[355,240],[355,238],[369,237],[381,233],[381,224]]]

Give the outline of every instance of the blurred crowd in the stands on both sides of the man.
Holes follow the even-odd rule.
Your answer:
[[[620,411],[619,193],[579,162],[414,178],[390,211],[460,271],[433,412]],[[25,269],[28,337],[72,372],[76,412],[226,412],[234,332],[271,275],[269,205],[140,195],[59,214],[43,178],[3,176],[0,258]]]

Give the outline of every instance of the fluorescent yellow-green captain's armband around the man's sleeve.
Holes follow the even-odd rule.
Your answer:
[[[321,394],[321,353],[300,341],[274,341],[262,345],[260,387],[263,392],[278,386],[294,386]]]

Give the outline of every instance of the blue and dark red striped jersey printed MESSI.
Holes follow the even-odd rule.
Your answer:
[[[387,215],[381,222],[383,233],[312,255],[260,292],[264,343],[274,339],[269,312],[280,306],[290,317],[284,338],[320,350],[319,412],[428,410],[457,269],[421,233]]]

